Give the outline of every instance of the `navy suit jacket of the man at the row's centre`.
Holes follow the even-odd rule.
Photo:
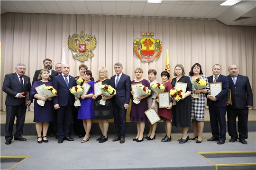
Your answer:
[[[114,83],[115,85],[115,77],[111,76],[110,80]],[[117,94],[114,95],[114,102],[117,103],[118,105],[124,105],[130,103],[130,92],[131,92],[131,79],[130,76],[126,74],[122,74],[122,76],[119,78],[118,85],[115,86],[115,89],[117,91]]]

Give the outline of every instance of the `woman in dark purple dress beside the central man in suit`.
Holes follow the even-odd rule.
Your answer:
[[[131,81],[131,84],[141,83],[150,89],[149,82],[142,78],[143,70],[141,68],[136,68],[135,71],[136,79]],[[131,91],[133,94],[134,91]],[[137,99],[140,100],[139,104],[135,104],[132,102],[131,112],[130,112],[130,122],[137,122],[137,136],[133,139],[133,141],[141,142],[143,141],[143,132],[145,128],[145,122],[148,122],[144,111],[148,110],[147,105],[147,96],[137,96]]]

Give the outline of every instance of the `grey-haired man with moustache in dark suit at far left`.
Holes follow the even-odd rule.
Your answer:
[[[25,76],[25,64],[17,64],[15,70],[16,73],[5,75],[2,88],[2,90],[7,93],[5,100],[5,144],[11,144],[11,140],[13,139],[12,131],[15,117],[17,117],[17,120],[14,140],[27,140],[22,137],[21,134],[23,133],[27,106],[29,106],[32,102],[32,98],[29,98],[28,101],[26,100],[26,93],[31,89],[30,78]]]

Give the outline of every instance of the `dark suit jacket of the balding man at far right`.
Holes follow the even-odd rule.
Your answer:
[[[234,85],[232,77],[229,75],[229,88],[231,90],[232,105],[229,108],[247,109],[247,105],[253,105],[252,88],[247,76],[238,74],[236,85]],[[235,103],[235,104],[233,104]]]

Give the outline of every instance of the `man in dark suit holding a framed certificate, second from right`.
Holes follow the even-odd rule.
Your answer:
[[[217,95],[206,94],[207,105],[210,113],[210,127],[212,137],[207,141],[218,141],[224,144],[226,140],[226,109],[227,94],[229,93],[229,79],[220,74],[221,66],[215,64],[212,67],[213,75],[207,77],[209,83],[221,82],[222,90]]]

